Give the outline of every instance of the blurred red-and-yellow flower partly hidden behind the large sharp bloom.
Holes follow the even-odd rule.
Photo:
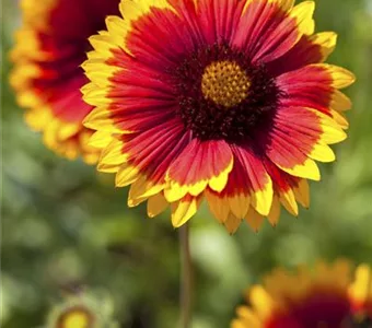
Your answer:
[[[86,83],[80,65],[90,49],[88,37],[118,12],[118,0],[22,0],[22,27],[16,32],[11,59],[11,84],[18,102],[26,107],[27,124],[44,132],[44,142],[57,153],[88,163],[98,151],[86,141],[92,134],[82,126],[92,109],[82,101]]]

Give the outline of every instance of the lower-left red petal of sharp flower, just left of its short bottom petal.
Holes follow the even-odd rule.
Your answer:
[[[113,144],[104,152],[98,168],[114,163],[120,165],[118,162],[123,161],[116,184],[121,187],[137,181],[129,195],[129,203],[135,206],[163,190],[166,171],[187,145],[189,134],[178,120],[168,120],[142,133],[119,138],[121,149],[120,144]]]

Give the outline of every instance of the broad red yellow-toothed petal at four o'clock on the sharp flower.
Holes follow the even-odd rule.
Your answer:
[[[268,157],[294,176],[319,179],[318,168],[312,159],[322,162],[335,160],[327,144],[346,138],[341,127],[321,112],[300,107],[279,109],[275,120]]]

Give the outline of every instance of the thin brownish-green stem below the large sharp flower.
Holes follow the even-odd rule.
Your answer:
[[[181,254],[181,328],[189,328],[191,321],[191,290],[193,265],[189,248],[188,223],[179,227],[179,254]]]

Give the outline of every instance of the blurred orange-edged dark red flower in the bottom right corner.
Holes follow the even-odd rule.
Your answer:
[[[275,270],[247,293],[232,328],[357,328],[372,325],[372,270],[346,260],[318,262],[314,271]],[[370,326],[369,326],[370,325]]]

